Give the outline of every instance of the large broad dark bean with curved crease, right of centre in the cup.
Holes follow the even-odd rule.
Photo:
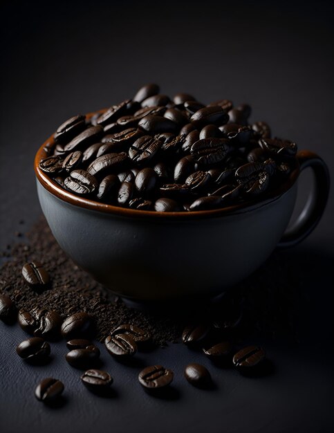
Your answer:
[[[205,138],[196,141],[190,153],[196,163],[201,166],[210,166],[221,163],[228,156],[230,145],[226,138]]]

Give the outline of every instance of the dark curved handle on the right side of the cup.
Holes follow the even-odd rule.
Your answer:
[[[313,170],[314,188],[310,190],[304,209],[299,214],[292,227],[284,232],[279,248],[286,248],[303,241],[319,223],[329,194],[329,172],[324,160],[312,151],[304,150],[297,153],[300,172],[307,167]]]

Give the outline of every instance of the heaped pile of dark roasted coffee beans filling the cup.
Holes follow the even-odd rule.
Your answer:
[[[39,168],[79,196],[156,212],[250,203],[286,181],[297,145],[250,122],[250,105],[159,92],[147,84],[102,113],[66,120]]]

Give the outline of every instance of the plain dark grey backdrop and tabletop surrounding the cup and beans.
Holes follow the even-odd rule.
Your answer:
[[[162,93],[210,102],[250,102],[252,120],[319,153],[333,173],[333,13],[330,2],[3,1],[1,2],[1,248],[17,241],[41,210],[33,157],[69,116],[131,98],[157,82]],[[301,178],[299,207],[310,176]],[[304,194],[303,194],[304,192]],[[22,365],[24,338],[0,324],[0,428],[36,432],[329,432],[333,428],[333,194],[304,243],[281,252],[295,264],[300,302],[293,338],[264,338],[274,375],[245,379],[211,367],[180,344],[142,356],[176,372],[174,399],[147,396],[138,371],[106,360],[118,397],[96,398],[55,344],[53,362]],[[19,222],[24,220],[24,224]],[[287,277],[287,276],[286,276]],[[275,275],[273,276],[275,278]],[[275,302],[275,300],[274,300]],[[298,311],[297,311],[298,310]],[[59,355],[59,356],[57,356]],[[206,362],[216,381],[199,391],[182,378],[187,362]],[[67,368],[68,367],[68,368]],[[66,405],[33,397],[41,376],[66,383]]]

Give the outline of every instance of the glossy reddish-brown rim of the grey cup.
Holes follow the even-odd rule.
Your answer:
[[[93,113],[86,114],[86,119],[90,119],[96,113],[103,113],[106,109],[94,111]],[[98,212],[104,212],[107,214],[113,214],[116,216],[127,216],[128,218],[145,218],[145,219],[166,219],[166,220],[176,220],[176,219],[201,219],[208,217],[224,216],[232,213],[243,213],[250,212],[255,208],[261,208],[263,205],[267,205],[272,201],[278,200],[283,194],[285,194],[290,187],[292,187],[299,176],[299,164],[296,158],[296,165],[293,171],[290,173],[288,180],[280,185],[275,190],[263,194],[259,199],[252,201],[244,201],[243,203],[238,203],[236,205],[226,206],[225,208],[218,208],[212,210],[197,210],[192,212],[156,212],[149,210],[137,210],[129,208],[120,208],[114,205],[108,205],[106,203],[100,203],[98,201],[93,201],[91,199],[85,199],[84,197],[76,196],[71,192],[64,190],[55,181],[49,178],[44,172],[39,168],[39,162],[41,159],[48,156],[45,149],[52,149],[55,145],[55,140],[53,139],[53,134],[50,136],[37,150],[35,155],[34,169],[37,180],[39,183],[48,191],[53,194],[58,199],[66,201],[66,203],[71,203],[71,205],[79,206],[80,208],[96,210]]]

